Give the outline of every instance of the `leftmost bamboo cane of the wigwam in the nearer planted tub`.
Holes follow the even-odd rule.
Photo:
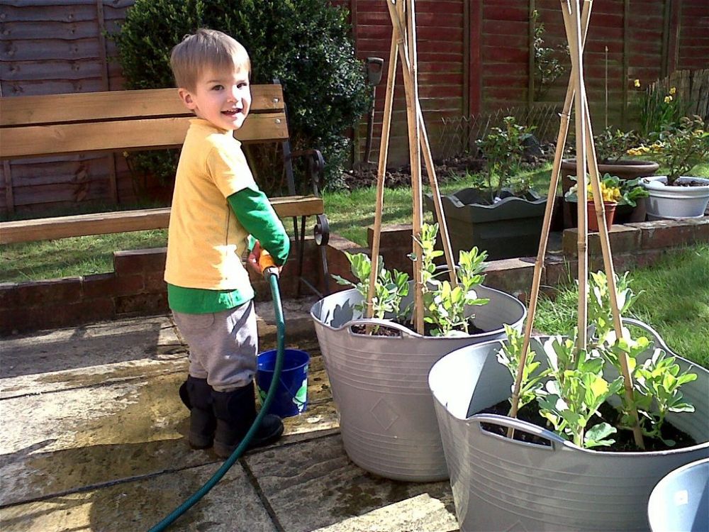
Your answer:
[[[581,47],[586,43],[586,35],[588,33],[588,21],[591,18],[591,1],[584,2],[584,10],[581,13]],[[566,97],[564,98],[564,107],[561,113],[559,123],[559,133],[557,135],[557,147],[554,150],[554,163],[552,165],[552,175],[549,181],[549,192],[547,193],[547,207],[544,212],[544,221],[542,222],[542,235],[540,238],[539,251],[537,252],[537,260],[535,260],[534,273],[532,275],[532,289],[530,290],[530,299],[527,310],[527,321],[525,322],[525,333],[522,343],[522,355],[520,365],[517,368],[515,376],[515,385],[512,392],[512,408],[510,409],[510,417],[517,417],[517,411],[520,403],[520,387],[522,386],[522,377],[524,374],[525,364],[527,362],[527,349],[530,346],[532,337],[532,327],[534,326],[535,316],[537,314],[537,301],[539,299],[540,285],[542,284],[542,270],[544,269],[544,260],[547,253],[547,243],[549,240],[549,231],[552,226],[552,212],[554,211],[554,200],[557,196],[557,185],[559,184],[559,172],[561,171],[562,156],[564,154],[564,146],[566,145],[566,137],[569,134],[569,116],[571,114],[571,104],[574,103],[574,72],[572,70],[569,77],[569,84],[566,86]],[[514,429],[508,430],[508,438],[512,438]]]

